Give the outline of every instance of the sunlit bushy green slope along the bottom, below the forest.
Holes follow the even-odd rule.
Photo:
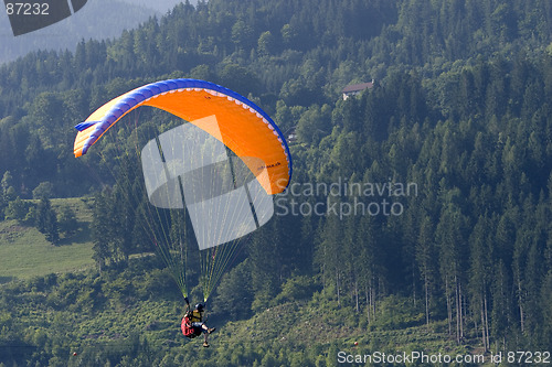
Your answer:
[[[31,292],[24,299],[38,295]],[[322,300],[321,296],[315,298]],[[362,315],[355,315],[352,307],[329,309],[319,301],[283,303],[248,320],[208,320],[210,326],[216,326],[217,331],[210,337],[212,347],[204,349],[201,337],[188,341],[180,334],[182,304],[173,296],[158,294],[144,301],[126,300],[124,310],[120,303],[116,306],[117,303],[107,300],[107,304],[89,313],[78,311],[78,307],[71,310],[71,306],[53,311],[40,301],[35,313],[18,311],[18,323],[26,330],[26,334],[40,333],[42,330],[47,337],[52,337],[52,334],[63,335],[66,350],[62,358],[74,365],[91,354],[113,354],[117,350],[121,350],[123,355],[128,354],[131,349],[126,344],[131,341],[130,335],[148,339],[156,357],[163,354],[184,356],[187,366],[204,366],[205,360],[213,363],[220,358],[241,360],[252,353],[259,363],[264,354],[280,348],[285,348],[286,354],[309,355],[311,360],[333,361],[337,361],[338,350],[353,355],[412,350],[452,356],[479,353],[475,349],[477,339],[467,339],[464,346],[456,345],[448,337],[444,322],[397,330],[382,330],[376,325],[367,328],[365,325],[359,326],[358,320]],[[23,306],[22,310],[28,309]],[[359,343],[358,346],[354,346],[354,342]],[[78,356],[73,357],[73,352]],[[243,365],[235,360],[230,365]],[[251,365],[251,360],[246,365]]]

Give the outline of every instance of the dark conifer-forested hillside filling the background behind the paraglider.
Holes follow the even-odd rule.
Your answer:
[[[73,156],[74,125],[110,98],[172,77],[236,90],[297,136],[290,142],[291,184],[275,197],[274,218],[223,278],[211,305],[216,320],[252,322],[267,309],[329,307],[348,333],[371,341],[372,352],[399,346],[392,336],[382,342],[371,333],[416,326],[458,348],[550,352],[552,4],[211,0],[181,3],[114,41],[83,41],[75,53],[31,53],[0,67],[0,218],[42,225],[56,242],[56,229],[44,223],[60,218],[44,214],[43,197],[93,197],[95,209],[106,213],[92,224],[95,244],[105,245],[95,247],[94,260],[108,268],[102,276],[47,277],[39,285],[0,289],[7,305],[0,314],[2,342],[24,341],[33,352],[12,354],[7,365],[61,366],[56,358],[68,353],[49,339],[47,325],[57,327],[60,320],[42,320],[43,338],[31,335],[29,319],[18,323],[23,312],[15,306],[18,292],[21,302],[32,303],[44,293],[64,294],[63,284],[76,287],[66,278],[82,281],[88,293],[74,290],[81,303],[71,307],[52,295],[45,310],[102,314],[104,323],[113,307],[140,302],[147,307],[164,296],[178,304],[173,291],[156,290],[170,285],[158,280],[162,270],[155,261],[145,261],[151,273],[128,285],[136,271],[128,258],[151,245],[129,230],[139,217],[117,195],[120,187],[109,174],[114,163]],[[372,79],[371,89],[341,98],[347,85]],[[171,123],[152,111],[130,119]],[[131,126],[112,134],[119,147],[131,149]],[[112,139],[97,148],[115,152],[113,147]],[[33,197],[42,204],[25,201]],[[117,213],[125,213],[125,224]],[[87,306],[87,299],[96,301]],[[171,306],[163,310],[163,317],[178,317]],[[301,316],[310,320],[308,313]],[[248,325],[244,333],[251,337],[255,323]],[[75,333],[84,339],[83,327]],[[91,352],[89,358],[172,366],[195,353],[172,342],[155,353],[146,337],[130,339],[125,327],[117,333],[106,332],[114,339],[128,337],[136,348],[104,359]],[[241,341],[236,360],[224,357],[223,346],[193,360],[197,366],[336,365],[348,335],[317,342],[317,333],[305,333],[302,343],[288,343],[287,335],[257,345]],[[279,354],[264,358],[275,345]],[[305,356],[294,355],[301,348]]]

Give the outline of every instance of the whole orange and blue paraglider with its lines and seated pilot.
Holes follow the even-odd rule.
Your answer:
[[[171,79],[125,93],[78,123],[75,156],[85,155],[141,106],[183,120],[137,147],[144,185],[136,196],[147,198],[146,229],[184,300],[188,252],[183,242],[190,233],[187,222],[191,223],[206,302],[241,240],[273,216],[272,195],[282,193],[291,177],[289,148],[270,117],[247,98],[209,82]],[[183,235],[174,236],[174,227]],[[183,320],[183,333],[184,324]],[[191,332],[185,328],[185,333]]]

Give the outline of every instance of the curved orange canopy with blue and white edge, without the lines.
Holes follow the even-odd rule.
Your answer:
[[[88,149],[120,118],[140,106],[176,115],[212,134],[247,162],[268,194],[289,184],[293,164],[286,140],[274,121],[247,98],[220,85],[197,79],[156,82],[130,90],[98,108],[75,128],[75,156]],[[255,158],[255,160],[247,160]],[[264,179],[262,179],[264,177]]]

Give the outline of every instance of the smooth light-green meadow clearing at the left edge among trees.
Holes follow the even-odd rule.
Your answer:
[[[89,203],[64,198],[53,199],[52,206],[70,206],[75,212],[79,224],[77,234],[53,246],[36,228],[20,226],[15,220],[0,222],[0,282],[75,271],[94,265],[88,231]]]

